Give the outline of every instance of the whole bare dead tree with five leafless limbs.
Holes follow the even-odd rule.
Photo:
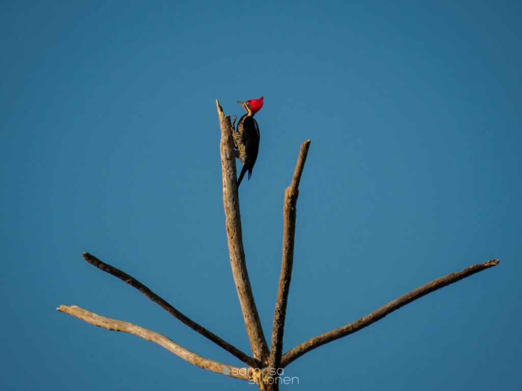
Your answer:
[[[333,329],[324,334],[310,338],[304,341],[301,345],[295,346],[283,354],[283,331],[284,320],[287,309],[288,292],[290,290],[290,279],[292,276],[293,252],[294,252],[294,236],[295,236],[295,217],[296,204],[299,196],[299,182],[303,173],[306,156],[310,148],[310,140],[303,142],[299,152],[298,162],[295,167],[295,172],[290,186],[284,192],[284,206],[283,206],[283,250],[282,250],[282,264],[281,275],[279,278],[279,289],[277,293],[277,301],[274,312],[274,323],[272,326],[271,343],[268,346],[259,314],[257,313],[254,295],[248,273],[246,270],[245,252],[243,249],[243,236],[241,227],[241,214],[239,209],[239,198],[236,188],[236,165],[234,150],[233,132],[234,127],[230,121],[230,116],[223,113],[223,109],[216,101],[219,115],[219,124],[221,127],[221,166],[223,174],[223,204],[226,215],[226,228],[228,237],[228,248],[230,252],[230,263],[232,266],[232,274],[236,289],[238,291],[239,302],[246,326],[246,332],[250,340],[250,345],[253,355],[247,355],[245,352],[234,347],[227,341],[213,334],[207,328],[201,326],[189,317],[185,316],[179,310],[174,308],[171,304],[163,298],[156,295],[145,285],[141,284],[137,279],[128,275],[127,273],[118,270],[117,268],[100,261],[89,253],[84,253],[84,259],[91,265],[98,267],[100,270],[112,274],[113,276],[123,280],[128,285],[138,289],[150,300],[158,304],[161,308],[169,314],[180,320],[188,327],[191,327],[195,332],[210,339],[231,355],[241,360],[245,366],[237,367],[225,363],[210,360],[206,357],[197,355],[196,353],[176,344],[173,340],[156,333],[147,328],[138,326],[133,323],[124,322],[120,320],[110,319],[77,306],[60,306],[58,311],[65,312],[76,316],[90,324],[103,327],[113,331],[122,331],[137,335],[149,341],[155,342],[170,350],[175,355],[182,359],[207,369],[222,373],[227,376],[239,378],[255,382],[262,391],[276,391],[279,389],[281,377],[279,374],[281,370],[287,365],[298,359],[306,352],[315,349],[319,346],[329,343],[338,338],[345,337],[349,334],[358,332],[360,329],[371,325],[384,316],[398,310],[402,306],[421,298],[424,295],[440,289],[447,285],[456,283],[457,281],[466,278],[472,274],[483,271],[489,267],[499,264],[499,260],[491,260],[484,263],[469,266],[458,273],[450,273],[444,277],[434,279],[432,282],[422,285],[407,294],[390,301],[383,307],[361,317],[354,322],[348,323],[339,328]]]

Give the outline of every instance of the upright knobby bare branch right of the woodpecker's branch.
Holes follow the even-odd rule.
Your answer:
[[[292,278],[292,265],[295,239],[296,205],[299,197],[299,183],[303,174],[306,156],[310,148],[310,140],[301,144],[299,158],[295,166],[292,184],[284,191],[283,206],[283,258],[281,262],[281,275],[279,277],[279,289],[277,292],[276,309],[274,312],[274,326],[272,327],[272,346],[269,368],[279,368],[283,350],[284,320],[286,319],[288,292]]]

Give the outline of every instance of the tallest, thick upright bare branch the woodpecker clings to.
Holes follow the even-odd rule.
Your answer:
[[[254,358],[262,362],[268,357],[268,345],[263,334],[263,327],[257,313],[254,295],[248,272],[246,270],[245,251],[243,249],[243,233],[241,228],[241,213],[239,210],[238,188],[236,186],[236,168],[232,124],[230,116],[223,113],[223,109],[216,100],[221,128],[221,168],[223,174],[223,205],[226,217],[228,247],[230,252],[230,264],[232,275],[241,310],[245,320],[246,332],[250,339],[250,345]]]

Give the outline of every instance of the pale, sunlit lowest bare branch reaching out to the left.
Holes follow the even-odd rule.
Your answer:
[[[176,344],[173,340],[165,337],[164,335],[149,330],[148,328],[138,326],[134,323],[101,316],[77,306],[60,306],[56,310],[76,316],[78,319],[93,324],[94,326],[106,328],[112,331],[121,331],[124,333],[134,334],[148,341],[155,342],[156,344],[171,351],[176,356],[181,357],[183,360],[199,366],[200,368],[222,373],[224,375],[238,379],[248,380],[247,368],[236,368],[234,366],[226,365],[221,362],[209,360],[203,356],[199,356],[196,353],[185,349],[183,346]]]

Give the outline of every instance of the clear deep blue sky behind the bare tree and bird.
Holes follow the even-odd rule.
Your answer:
[[[249,389],[60,304],[233,357],[85,263],[122,268],[250,352],[215,99],[265,96],[241,186],[265,332],[301,182],[284,351],[449,272],[501,265],[316,349],[287,389],[520,389],[519,2],[0,3],[3,389]],[[253,388],[252,388],[253,389]]]

